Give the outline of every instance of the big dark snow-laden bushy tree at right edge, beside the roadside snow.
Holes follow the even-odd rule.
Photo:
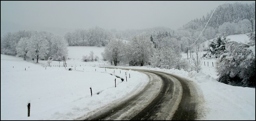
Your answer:
[[[217,61],[217,80],[235,86],[255,87],[255,43],[229,41],[226,50],[227,53]]]

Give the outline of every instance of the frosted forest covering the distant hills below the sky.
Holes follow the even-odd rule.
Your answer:
[[[186,47],[194,43],[202,32],[213,10],[202,18],[194,19],[183,25],[177,30],[167,27],[154,27],[149,29],[127,29],[125,31],[117,31],[116,29],[106,30],[98,26],[91,29],[77,29],[73,32],[66,32],[62,39],[66,41],[68,46],[106,46],[113,38],[130,41],[136,35],[145,35],[154,38],[156,44],[163,38],[177,40],[181,44],[181,51],[186,51]],[[248,33],[251,20],[255,20],[255,3],[226,3],[216,8],[203,34],[198,38],[198,43],[216,38],[217,35],[226,33],[226,35]],[[253,31],[255,31],[255,21],[253,21]],[[30,37],[35,32],[24,31],[7,33],[1,37],[1,53],[16,55],[16,45],[22,37]],[[42,32],[41,32],[42,33]],[[52,40],[53,33],[44,32],[45,38]],[[7,42],[8,41],[8,42]],[[51,51],[51,50],[49,50]]]

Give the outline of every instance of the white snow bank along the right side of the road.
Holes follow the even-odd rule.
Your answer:
[[[216,81],[209,71],[187,72],[177,69],[160,69],[151,67],[127,67],[157,70],[172,73],[193,81],[200,87],[204,97],[203,117],[198,120],[255,120],[255,88],[231,86]]]

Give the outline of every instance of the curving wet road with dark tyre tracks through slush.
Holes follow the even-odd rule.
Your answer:
[[[201,98],[192,81],[159,71],[131,70],[148,75],[149,82],[144,89],[91,111],[77,120],[196,120],[198,118],[198,103],[201,102]]]

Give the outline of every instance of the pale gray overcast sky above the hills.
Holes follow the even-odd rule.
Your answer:
[[[235,2],[241,1],[1,1],[1,36],[11,28],[51,31],[96,25],[117,30],[157,26],[176,30],[220,4]]]

